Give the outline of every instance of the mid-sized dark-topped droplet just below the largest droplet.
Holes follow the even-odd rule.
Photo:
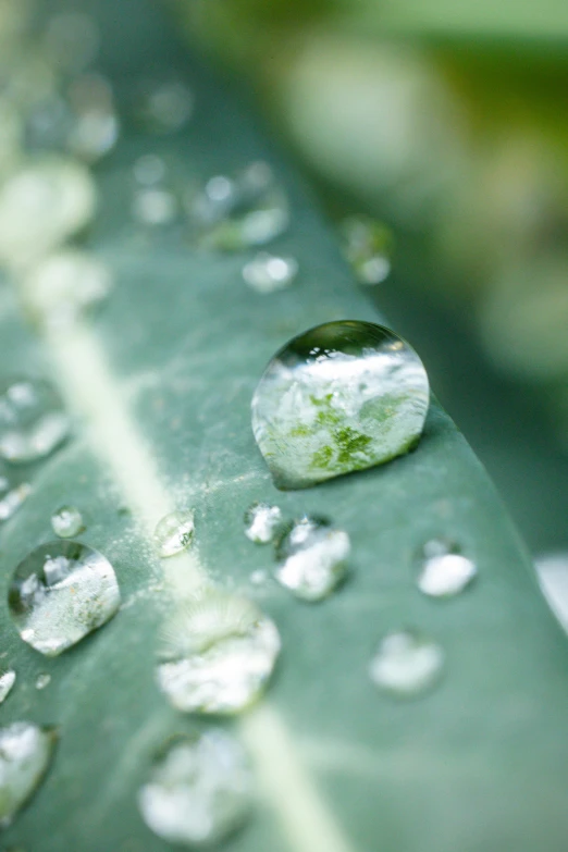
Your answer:
[[[288,526],[279,541],[279,583],[304,601],[321,601],[345,579],[349,536],[328,521],[305,516]]]

